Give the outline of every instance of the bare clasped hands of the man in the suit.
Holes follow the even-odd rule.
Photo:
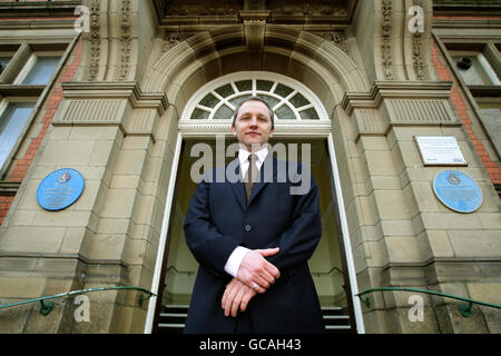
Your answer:
[[[236,317],[238,309],[245,312],[257,293],[265,293],[281,276],[278,268],[265,257],[278,254],[278,248],[248,251],[240,263],[236,278],[226,285],[222,307],[225,316]]]

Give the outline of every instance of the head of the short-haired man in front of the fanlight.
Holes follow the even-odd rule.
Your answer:
[[[232,126],[232,131],[238,142],[250,152],[267,144],[273,137],[274,129],[266,105],[257,100],[244,102]]]

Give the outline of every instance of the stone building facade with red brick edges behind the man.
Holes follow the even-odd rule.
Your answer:
[[[277,144],[311,144],[324,227],[311,268],[346,332],[501,332],[488,306],[465,317],[441,296],[379,290],[363,296],[370,307],[356,296],[409,287],[501,304],[501,1],[0,9],[0,304],[115,286],[156,295],[85,294],[84,322],[75,296],[48,315],[12,306],[1,333],[158,332],[163,305],[189,300],[197,267],[180,229],[193,147],[230,140],[228,112],[250,93],[276,107]],[[425,164],[415,137],[454,138],[465,164]],[[37,190],[61,168],[82,175],[84,192],[43,209]],[[480,187],[477,210],[439,200],[446,169]]]

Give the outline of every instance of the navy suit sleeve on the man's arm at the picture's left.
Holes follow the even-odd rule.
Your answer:
[[[209,208],[210,185],[203,179],[196,187],[186,214],[186,243],[195,259],[213,275],[226,275],[224,267],[239,241],[220,234],[214,226]]]

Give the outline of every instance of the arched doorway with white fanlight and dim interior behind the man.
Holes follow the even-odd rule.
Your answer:
[[[333,159],[331,119],[321,100],[306,86],[289,77],[266,71],[235,72],[207,82],[191,96],[179,118],[174,160],[177,172],[175,184],[170,185],[169,211],[166,211],[164,221],[166,249],[161,268],[155,271],[159,274],[155,317],[148,319],[155,330],[183,328],[198,267],[183,233],[184,215],[196,181],[190,175],[190,167],[197,160],[191,157],[191,148],[204,142],[216,152],[216,136],[226,136],[227,144],[230,144],[233,110],[239,100],[255,95],[265,98],[275,111],[272,146],[308,146],[308,160],[321,192],[323,221],[323,236],[310,267],[330,330],[360,332],[360,322],[356,320],[361,316],[357,317],[352,300],[351,280],[354,276],[348,271],[350,266],[353,270],[353,259],[350,245],[343,240],[348,239],[347,228],[342,234],[344,207],[342,202],[340,205],[341,190],[336,189],[335,182],[338,175]],[[223,164],[232,159],[234,157],[226,156]]]

